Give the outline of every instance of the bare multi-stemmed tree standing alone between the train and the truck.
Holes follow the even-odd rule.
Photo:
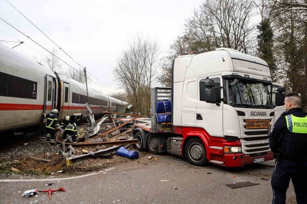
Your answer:
[[[129,102],[145,115],[150,112],[150,88],[157,81],[160,63],[159,44],[149,37],[135,36],[113,70],[115,81],[124,87]]]

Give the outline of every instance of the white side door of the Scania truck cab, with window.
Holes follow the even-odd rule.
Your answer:
[[[205,102],[205,85],[200,80],[206,78],[198,78],[197,80],[197,101],[196,101],[196,127],[204,128],[211,136],[223,137],[223,89],[216,89],[216,102],[220,106]],[[221,76],[212,76],[209,79],[213,80],[215,87],[220,87],[222,84]]]

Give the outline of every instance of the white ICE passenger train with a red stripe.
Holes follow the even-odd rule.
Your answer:
[[[88,88],[95,115],[104,109],[128,103]],[[86,110],[86,86],[68,77],[53,73],[13,49],[0,44],[0,132],[42,123],[42,114],[59,110],[59,119],[66,115],[77,119]]]

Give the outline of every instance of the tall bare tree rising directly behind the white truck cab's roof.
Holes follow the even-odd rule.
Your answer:
[[[161,67],[159,81],[171,85],[172,61],[178,55],[213,51],[228,47],[243,53],[256,53],[256,28],[251,17],[255,4],[249,0],[204,0],[185,23],[185,32],[170,46],[170,55]]]

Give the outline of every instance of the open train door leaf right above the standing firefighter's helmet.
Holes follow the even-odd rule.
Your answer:
[[[46,91],[45,91],[45,106],[44,113],[50,113],[52,109],[56,107],[56,83],[53,77],[46,75]]]

